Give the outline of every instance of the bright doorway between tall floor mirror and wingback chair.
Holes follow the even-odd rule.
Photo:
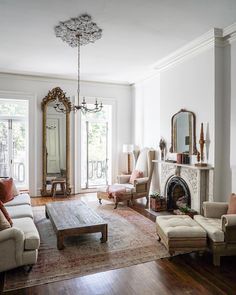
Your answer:
[[[92,107],[92,105],[91,105]],[[81,188],[91,189],[111,181],[112,106],[81,115]]]

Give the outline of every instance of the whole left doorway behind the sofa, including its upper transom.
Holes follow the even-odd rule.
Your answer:
[[[28,101],[0,99],[0,177],[28,189]]]

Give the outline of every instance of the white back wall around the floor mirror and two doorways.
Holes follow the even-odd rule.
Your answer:
[[[31,159],[31,169],[36,171],[36,184],[31,185],[31,195],[38,195],[39,190],[42,186],[42,112],[41,112],[41,101],[47,95],[48,91],[54,87],[61,87],[63,91],[67,93],[69,97],[74,97],[76,94],[77,83],[75,80],[65,79],[53,79],[53,78],[40,78],[31,76],[20,76],[10,74],[0,74],[0,91],[10,92],[24,92],[31,94],[31,99],[35,98],[35,115],[31,117],[31,121],[35,123],[35,154],[37,155],[34,159]],[[81,83],[81,96],[85,97],[98,97],[104,99],[107,103],[110,103],[116,108],[114,114],[113,131],[116,134],[116,144],[113,146],[113,177],[116,176],[118,171],[122,170],[118,162],[117,155],[122,151],[122,144],[130,142],[131,138],[131,90],[128,85],[119,84],[105,84],[95,82],[82,82]],[[32,116],[32,113],[31,113]],[[78,116],[77,116],[78,117]],[[75,176],[80,177],[78,167],[80,163],[75,159],[79,159],[79,156],[75,153],[74,142],[75,137],[79,132],[79,126],[73,126],[74,122],[78,123],[78,118],[74,120],[74,115],[71,116],[72,121],[72,187],[75,180]],[[75,127],[75,128],[74,128]],[[76,136],[75,136],[76,135]],[[32,149],[32,147],[30,147]],[[75,164],[75,165],[74,165]]]

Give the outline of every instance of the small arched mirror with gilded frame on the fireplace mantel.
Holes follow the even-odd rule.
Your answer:
[[[171,153],[196,155],[196,117],[181,109],[171,118]]]

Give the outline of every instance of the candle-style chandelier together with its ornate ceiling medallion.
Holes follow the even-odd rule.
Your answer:
[[[102,37],[102,29],[92,22],[92,18],[88,14],[82,14],[78,18],[71,18],[68,21],[59,22],[59,25],[55,27],[56,37],[60,37],[71,47],[78,48],[78,84],[77,84],[77,96],[78,105],[73,105],[72,110],[77,112],[81,110],[82,113],[96,113],[102,110],[102,103],[95,101],[94,107],[89,108],[87,106],[85,98],[83,98],[80,104],[80,46],[94,43]],[[57,112],[66,113],[64,105],[56,100],[54,108]]]

